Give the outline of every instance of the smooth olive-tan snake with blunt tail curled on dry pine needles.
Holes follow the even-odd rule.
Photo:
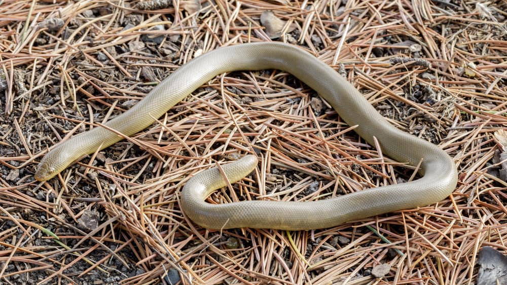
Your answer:
[[[219,74],[239,70],[278,69],[296,76],[327,101],[370,145],[378,141],[383,154],[418,167],[420,178],[311,201],[206,201],[216,189],[234,183],[257,166],[247,154],[191,177],[180,192],[180,209],[208,229],[265,228],[310,230],[330,228],[353,220],[414,209],[448,197],[457,184],[453,159],[437,145],[406,133],[384,118],[331,66],[301,47],[280,42],[244,43],[220,47],[178,67],[148,95],[105,127],[63,140],[41,159],[34,178],[46,181],[86,154],[104,149],[125,136],[152,125],[169,108]],[[338,179],[338,178],[337,178]]]

